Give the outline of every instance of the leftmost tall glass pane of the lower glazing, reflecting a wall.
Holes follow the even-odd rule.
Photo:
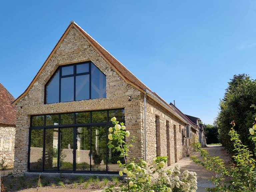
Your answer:
[[[31,130],[29,163],[30,170],[43,170],[43,129]]]

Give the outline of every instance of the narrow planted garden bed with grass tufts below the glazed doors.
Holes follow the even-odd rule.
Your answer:
[[[38,177],[4,177],[4,186],[6,191],[9,192],[32,192],[36,191],[39,185],[39,192],[42,191],[54,191],[54,192],[68,192],[68,191],[83,191],[90,192],[96,190],[102,190],[104,187],[109,185],[118,186],[120,184],[120,179],[118,177],[103,178],[99,179],[96,176],[89,177],[85,179],[83,176],[74,178],[63,178],[63,177],[40,177],[38,182]]]

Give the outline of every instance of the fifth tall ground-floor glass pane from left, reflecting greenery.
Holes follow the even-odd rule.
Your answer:
[[[106,171],[107,130],[105,126],[92,127],[91,171]]]

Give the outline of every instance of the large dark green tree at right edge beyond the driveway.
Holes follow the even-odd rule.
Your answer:
[[[216,123],[219,127],[219,138],[229,153],[233,153],[234,146],[230,142],[230,124],[232,120],[238,126],[234,127],[240,135],[244,145],[253,151],[252,141],[248,139],[248,127],[251,119],[256,117],[256,81],[246,74],[234,75],[228,83],[224,98],[220,101],[220,112]]]

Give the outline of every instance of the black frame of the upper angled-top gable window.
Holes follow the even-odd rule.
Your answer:
[[[76,72],[76,66],[80,65],[80,64],[89,64],[89,71],[88,72],[84,72],[84,73],[77,73]],[[90,99],[99,99],[99,98],[91,98],[91,92],[92,92],[92,70],[91,70],[91,65],[94,65],[96,68],[98,68],[93,62],[91,61],[86,61],[86,62],[80,62],[80,63],[72,63],[72,64],[68,64],[68,65],[61,65],[59,66],[55,72],[53,73],[53,75],[51,76],[51,78],[46,82],[45,86],[44,86],[44,104],[53,104],[53,103],[46,103],[46,87],[48,85],[48,83],[51,81],[52,77],[55,75],[55,73],[59,70],[59,102],[56,103],[65,103],[65,102],[72,102],[72,101],[61,101],[61,79],[65,78],[65,77],[74,77],[74,99],[73,101],[83,101],[83,100],[90,100]],[[68,67],[68,66],[72,66],[73,65],[73,74],[72,75],[62,75],[62,67]],[[98,68],[99,69],[99,68]],[[100,69],[99,69],[100,70]],[[101,70],[100,70],[101,71]],[[102,72],[102,71],[101,71]],[[103,72],[102,72],[103,73]],[[104,73],[103,73],[104,74]],[[89,75],[89,99],[83,99],[83,100],[76,100],[76,76],[80,76],[80,75]],[[105,74],[104,74],[105,75]],[[106,77],[106,75],[105,75]],[[106,98],[106,97],[103,97]]]

